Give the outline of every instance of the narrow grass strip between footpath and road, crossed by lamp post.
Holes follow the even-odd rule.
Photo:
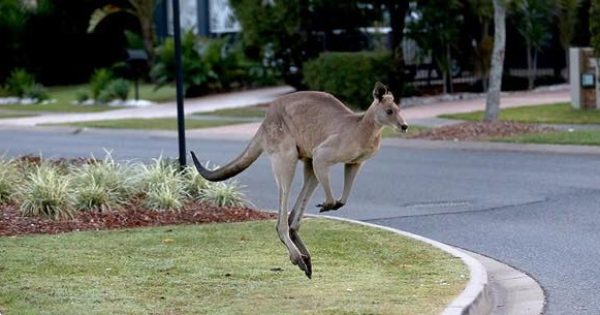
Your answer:
[[[186,119],[185,129],[200,129],[245,123],[236,120],[200,120]],[[152,119],[115,119],[98,120],[64,124],[76,127],[90,128],[113,128],[113,129],[148,129],[148,130],[177,130],[177,119],[175,118],[152,118]]]

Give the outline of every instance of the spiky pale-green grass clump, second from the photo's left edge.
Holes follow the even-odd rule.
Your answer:
[[[25,216],[72,218],[75,203],[71,177],[59,167],[42,163],[27,174],[17,193]]]

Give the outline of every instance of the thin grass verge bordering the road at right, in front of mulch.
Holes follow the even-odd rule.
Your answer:
[[[600,130],[578,130],[573,132],[560,131],[529,134],[506,138],[496,138],[492,141],[534,144],[600,145]]]

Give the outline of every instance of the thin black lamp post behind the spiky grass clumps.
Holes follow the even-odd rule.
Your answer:
[[[186,163],[185,112],[183,110],[183,69],[181,68],[181,26],[179,21],[179,0],[173,0],[173,37],[175,39],[175,85],[177,88],[177,135],[179,139],[179,166]]]

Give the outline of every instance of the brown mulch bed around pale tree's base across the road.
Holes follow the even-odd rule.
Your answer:
[[[556,131],[554,128],[510,121],[464,122],[427,130],[410,136],[411,139],[446,140],[446,141],[480,141],[491,138],[511,137],[531,133]]]

